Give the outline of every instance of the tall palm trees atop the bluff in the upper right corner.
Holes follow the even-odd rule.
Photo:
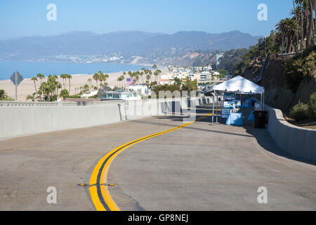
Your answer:
[[[316,45],[316,0],[292,0],[291,18],[277,23],[282,52],[303,51]]]

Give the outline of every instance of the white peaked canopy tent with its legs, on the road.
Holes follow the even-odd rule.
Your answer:
[[[227,82],[214,85],[212,89],[214,91],[213,115],[214,115],[216,92],[235,93],[235,94],[241,94],[241,95],[242,94],[260,94],[261,95],[261,109],[264,110],[265,89],[263,88],[263,86],[259,86],[258,84],[255,84],[251,82],[250,80],[245,79],[244,77],[241,77],[241,76],[234,77],[228,80]],[[213,122],[213,117],[212,117],[212,122]]]

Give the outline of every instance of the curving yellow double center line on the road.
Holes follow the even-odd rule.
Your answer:
[[[166,131],[162,131],[156,134],[152,134],[149,136],[145,136],[140,139],[136,139],[135,141],[131,141],[129,143],[126,143],[122,146],[119,146],[110,153],[107,153],[107,155],[103,156],[101,160],[98,162],[96,167],[93,169],[93,172],[91,174],[89,188],[90,188],[90,195],[91,199],[93,201],[94,206],[96,207],[96,210],[98,211],[119,211],[119,207],[112,199],[112,196],[110,195],[110,191],[108,189],[108,186],[103,186],[102,184],[107,183],[107,172],[109,171],[110,165],[114,158],[119,155],[123,150],[126,148],[129,148],[130,146],[135,145],[136,143],[139,143],[141,141],[145,141],[147,139],[152,139],[155,136],[159,136],[162,134],[169,133],[171,131],[176,131],[177,129],[181,129],[183,127],[187,127],[190,124],[193,124],[199,120],[202,120],[204,117],[208,117],[211,115],[211,113],[208,113],[202,117],[199,117],[194,122],[188,122],[186,124],[183,124],[179,127],[174,127],[173,129],[168,129]]]

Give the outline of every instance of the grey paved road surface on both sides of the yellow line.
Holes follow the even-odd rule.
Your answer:
[[[210,112],[201,107],[199,115]],[[210,117],[126,148],[108,168],[120,210],[316,210],[316,164],[285,154],[251,124]],[[93,169],[117,146],[182,125],[167,115],[0,141],[0,210],[96,210]],[[46,201],[47,188],[57,203]],[[257,201],[267,188],[268,203]]]

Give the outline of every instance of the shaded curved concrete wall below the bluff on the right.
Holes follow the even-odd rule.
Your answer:
[[[268,132],[282,150],[298,158],[316,162],[316,130],[296,127],[287,122],[281,110],[265,105]]]

